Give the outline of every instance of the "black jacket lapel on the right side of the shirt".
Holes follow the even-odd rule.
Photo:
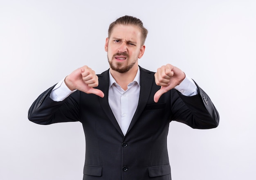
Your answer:
[[[128,128],[128,132],[132,129],[132,127],[135,125],[136,121],[139,119],[139,116],[143,112],[144,108],[146,107],[146,104],[148,102],[148,98],[150,95],[150,90],[152,89],[152,83],[153,83],[153,77],[152,73],[148,70],[145,70],[143,68],[140,68],[140,93],[139,93],[139,103],[137,110],[135,111],[135,114],[132,118],[132,121],[130,123],[130,126]]]

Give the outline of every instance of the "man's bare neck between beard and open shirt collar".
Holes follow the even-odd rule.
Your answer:
[[[123,90],[127,90],[128,84],[132,82],[137,74],[139,66],[133,66],[130,70],[124,73],[114,71],[110,68],[110,73],[115,81],[121,86]]]

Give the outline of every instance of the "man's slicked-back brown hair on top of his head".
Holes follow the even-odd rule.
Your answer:
[[[141,29],[141,35],[142,35],[142,45],[145,43],[147,34],[148,34],[148,30],[146,28],[144,28],[143,23],[141,20],[139,20],[138,18],[129,16],[129,15],[125,15],[121,18],[118,18],[117,20],[115,20],[114,22],[112,22],[109,25],[108,28],[108,37],[110,37],[113,28],[115,27],[115,25],[118,24],[122,24],[122,25],[134,25],[137,26],[139,29]]]

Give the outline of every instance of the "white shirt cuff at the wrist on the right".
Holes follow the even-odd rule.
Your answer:
[[[178,90],[184,96],[194,96],[198,94],[198,87],[195,82],[190,77],[185,77],[185,79],[176,86],[174,89]]]

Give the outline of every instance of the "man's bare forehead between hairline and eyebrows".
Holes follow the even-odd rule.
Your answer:
[[[127,40],[141,40],[141,30],[134,25],[123,25],[117,24],[112,29],[112,33],[110,34],[110,38],[120,38]]]

